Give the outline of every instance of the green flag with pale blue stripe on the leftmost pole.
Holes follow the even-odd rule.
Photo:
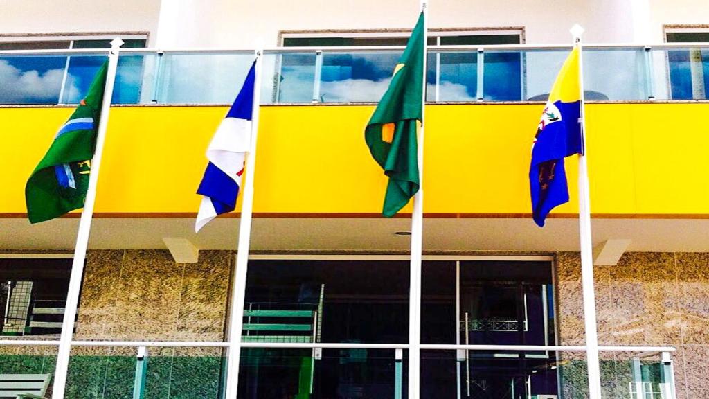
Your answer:
[[[44,222],[84,207],[104,101],[106,70],[108,61],[101,65],[89,93],[57,131],[49,150],[27,180],[25,199],[30,223]]]

